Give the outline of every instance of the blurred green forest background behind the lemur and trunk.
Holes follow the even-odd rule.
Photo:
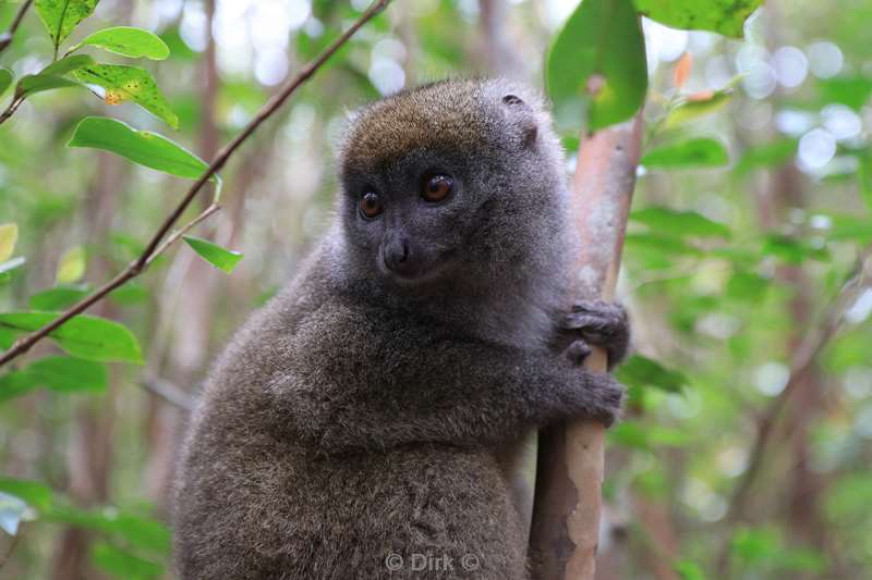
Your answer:
[[[179,177],[196,177],[363,3],[102,0],[57,20],[59,2],[37,1],[0,53],[0,110],[12,110],[0,124],[0,349],[134,260],[184,194]],[[184,412],[159,385],[195,395],[227,336],[293,274],[328,221],[349,109],[494,73],[545,86],[578,122],[592,76],[621,87],[594,91],[611,108],[588,107],[588,128],[644,98],[619,287],[635,351],[617,371],[629,402],[609,433],[601,568],[872,576],[872,292],[865,279],[843,287],[872,243],[872,5],[759,3],[635,0],[652,18],[640,30],[626,0],[585,0],[574,15],[572,1],[395,2],[222,170],[223,208],[192,232],[199,242],[0,370],[0,553],[19,534],[0,578],[72,578],[58,567],[73,556],[85,575],[166,573]],[[621,17],[584,22],[583,10],[615,7]],[[0,3],[0,26],[19,8]],[[584,140],[560,138],[569,174]],[[837,332],[776,405],[834,306]],[[773,435],[737,507],[767,417]],[[70,552],[70,530],[86,534],[84,554]]]

